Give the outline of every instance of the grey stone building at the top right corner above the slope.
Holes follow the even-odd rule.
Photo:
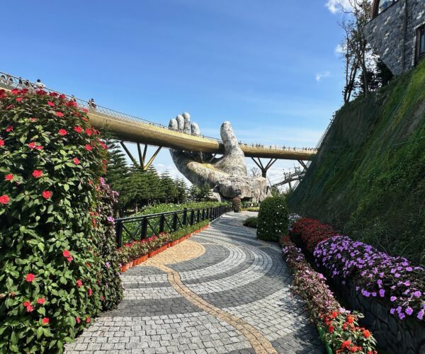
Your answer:
[[[425,0],[374,0],[365,37],[392,74],[425,57]]]

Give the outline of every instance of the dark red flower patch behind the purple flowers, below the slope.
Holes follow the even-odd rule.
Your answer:
[[[307,249],[309,251],[313,251],[314,246],[316,246],[320,241],[329,239],[329,237],[334,236],[336,232],[327,224],[322,224],[317,220],[302,217],[293,223],[290,234],[293,236],[299,236]]]

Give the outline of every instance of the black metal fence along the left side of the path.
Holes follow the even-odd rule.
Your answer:
[[[162,232],[176,232],[207,219],[212,221],[231,211],[232,205],[220,205],[115,219],[117,244],[120,247],[123,246],[123,241],[147,239]]]

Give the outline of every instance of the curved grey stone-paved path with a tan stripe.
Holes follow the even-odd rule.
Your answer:
[[[324,353],[281,249],[228,213],[122,275],[125,297],[67,353]]]

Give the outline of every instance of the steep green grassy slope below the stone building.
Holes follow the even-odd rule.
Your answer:
[[[425,63],[335,115],[293,212],[425,264]]]

